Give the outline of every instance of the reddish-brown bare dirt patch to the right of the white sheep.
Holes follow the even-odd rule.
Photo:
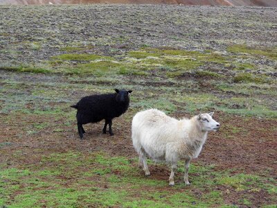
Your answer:
[[[234,168],[246,173],[268,171],[268,175],[277,175],[277,132],[274,126],[276,120],[249,118],[244,121],[240,116],[215,116],[220,123],[238,128],[238,132],[224,129],[215,132],[207,140],[202,157],[199,161],[215,162],[217,168]],[[231,136],[231,137],[229,137]],[[274,139],[275,138],[275,139]]]

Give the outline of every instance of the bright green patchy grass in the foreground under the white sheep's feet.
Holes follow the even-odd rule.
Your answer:
[[[145,178],[136,163],[103,152],[53,153],[42,157],[39,166],[4,168],[1,203],[12,202],[8,207],[236,207],[226,205],[223,198],[236,191],[244,193],[240,205],[251,207],[256,193],[266,192],[272,197],[268,200],[276,193],[273,178],[214,171],[214,166],[202,164],[191,166],[193,185],[185,187],[179,174],[180,182],[169,189],[166,180]]]

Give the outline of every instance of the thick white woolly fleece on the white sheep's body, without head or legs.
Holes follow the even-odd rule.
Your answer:
[[[132,121],[134,148],[138,153],[143,148],[147,155],[159,161],[196,158],[206,141],[206,132],[197,132],[195,122],[196,119],[178,121],[156,109],[139,112]]]

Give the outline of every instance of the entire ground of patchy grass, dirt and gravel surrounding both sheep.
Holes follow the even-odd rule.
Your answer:
[[[155,8],[0,7],[0,207],[276,207],[276,9]],[[115,136],[80,141],[69,106],[114,88],[133,90]],[[175,187],[166,164],[138,168],[130,125],[150,107],[222,124],[190,186],[181,163]]]

